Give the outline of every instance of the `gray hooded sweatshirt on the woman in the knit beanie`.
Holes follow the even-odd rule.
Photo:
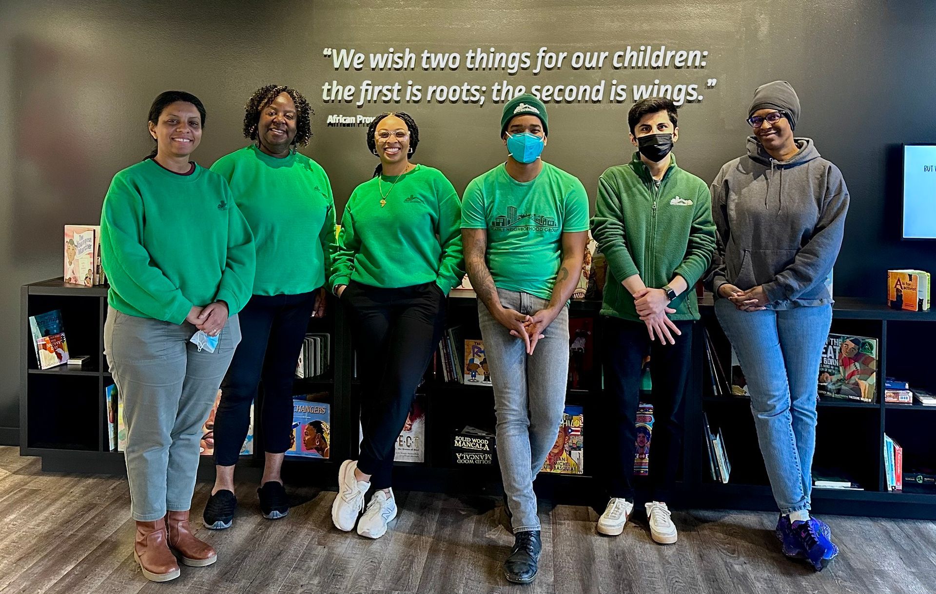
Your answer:
[[[710,288],[763,285],[770,310],[832,302],[826,278],[839,257],[848,210],[841,171],[819,156],[810,138],[776,161],[756,138],[748,154],[725,163],[711,184],[717,246]]]

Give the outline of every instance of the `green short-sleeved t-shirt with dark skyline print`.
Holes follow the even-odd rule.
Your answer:
[[[465,188],[461,228],[487,229],[495,286],[548,299],[562,234],[588,231],[588,195],[575,176],[546,162],[533,181],[514,180],[502,163]]]

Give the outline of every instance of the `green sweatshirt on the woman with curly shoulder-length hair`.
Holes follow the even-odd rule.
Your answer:
[[[227,180],[254,232],[254,295],[296,295],[325,284],[337,246],[325,169],[299,152],[277,158],[250,145],[215,161],[212,171]]]

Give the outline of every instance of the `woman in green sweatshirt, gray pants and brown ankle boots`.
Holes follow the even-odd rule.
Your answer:
[[[241,341],[254,238],[227,181],[189,161],[205,108],[167,91],[149,115],[156,148],[114,176],[101,212],[108,276],[104,353],[124,403],[134,558],[148,579],[217,558],[189,529],[201,426]]]

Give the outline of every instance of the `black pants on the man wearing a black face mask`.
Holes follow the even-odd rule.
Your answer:
[[[604,402],[599,408],[605,461],[601,465],[609,497],[634,497],[636,412],[640,398],[640,369],[651,357],[653,428],[650,443],[651,499],[669,499],[680,470],[683,395],[692,369],[693,322],[675,322],[682,336],[676,344],[650,340],[643,322],[605,317],[603,365]]]

